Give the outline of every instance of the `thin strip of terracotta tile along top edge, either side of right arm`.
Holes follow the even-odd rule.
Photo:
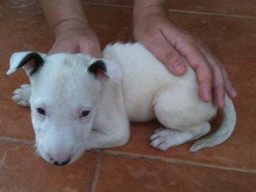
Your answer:
[[[83,0],[83,3],[101,3],[118,4],[123,6],[132,6],[132,0]],[[207,13],[224,13],[235,15],[256,16],[256,1],[254,0],[169,0],[168,8],[170,10],[186,10]]]

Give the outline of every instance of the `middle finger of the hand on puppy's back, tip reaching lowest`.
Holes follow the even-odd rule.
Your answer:
[[[225,80],[223,77],[223,72],[221,70],[220,64],[212,56],[211,52],[208,49],[205,49],[203,46],[198,46],[200,51],[205,55],[205,58],[209,61],[209,64],[212,69],[212,91],[213,91],[213,100],[214,104],[218,108],[225,107]]]

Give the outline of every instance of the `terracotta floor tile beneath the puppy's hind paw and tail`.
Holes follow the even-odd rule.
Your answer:
[[[236,168],[256,168],[256,24],[254,19],[214,17],[207,15],[170,14],[182,28],[200,37],[212,52],[219,56],[238,92],[234,100],[237,125],[234,134],[225,143],[190,153],[191,143],[173,147],[164,152],[149,146],[148,138],[160,125],[132,124],[131,140],[124,147],[111,150],[173,158],[195,163],[218,164]],[[237,27],[239,26],[239,27]],[[221,116],[213,122],[219,127]]]

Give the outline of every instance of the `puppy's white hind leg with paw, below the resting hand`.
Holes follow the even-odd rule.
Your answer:
[[[179,85],[177,85],[179,86]],[[157,119],[165,127],[150,137],[152,145],[160,150],[196,140],[210,130],[208,120],[216,113],[211,104],[198,99],[193,88],[173,88],[158,93],[154,100]]]

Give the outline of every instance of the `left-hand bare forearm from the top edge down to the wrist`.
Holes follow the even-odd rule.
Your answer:
[[[68,24],[61,26],[61,30],[72,25],[76,26],[77,23],[89,26],[80,0],[39,0],[39,2],[49,28],[55,35],[60,30],[56,27],[63,22]]]

